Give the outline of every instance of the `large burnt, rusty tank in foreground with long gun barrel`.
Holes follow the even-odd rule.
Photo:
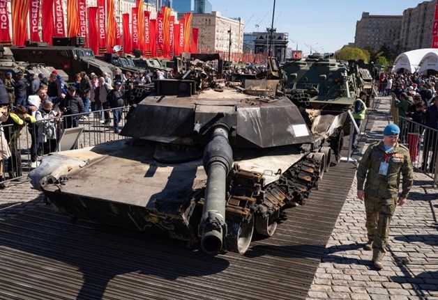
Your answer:
[[[194,65],[186,79],[156,81],[121,130],[130,139],[45,157],[29,177],[47,203],[73,221],[199,242],[211,254],[245,253],[254,230],[272,236],[329,168],[346,113],[303,116],[278,94],[273,59],[269,79],[245,88],[218,86]]]

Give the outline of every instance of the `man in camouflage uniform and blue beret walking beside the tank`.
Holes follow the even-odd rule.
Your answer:
[[[372,261],[378,269],[383,267],[395,206],[405,204],[414,181],[409,150],[398,143],[399,134],[397,125],[386,126],[383,141],[368,147],[357,169],[357,197],[365,200],[368,231],[368,243],[364,248],[373,251]],[[399,195],[400,173],[402,192]]]

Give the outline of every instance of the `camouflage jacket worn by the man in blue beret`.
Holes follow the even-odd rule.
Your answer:
[[[401,174],[403,179],[400,196],[407,198],[414,182],[409,150],[404,145],[397,143],[386,157],[389,164],[388,171],[386,175],[381,175],[379,174],[380,164],[385,161],[384,143],[379,141],[368,147],[357,168],[357,189],[379,198],[398,198]],[[365,189],[363,188],[364,183]]]

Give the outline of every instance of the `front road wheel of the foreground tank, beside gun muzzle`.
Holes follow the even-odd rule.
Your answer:
[[[227,251],[243,254],[250,246],[254,232],[254,216],[249,221],[227,221],[227,237],[225,248]]]

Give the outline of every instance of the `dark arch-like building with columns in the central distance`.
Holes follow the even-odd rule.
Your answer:
[[[277,32],[273,29],[272,41],[271,41],[271,29],[266,29],[266,32],[257,33],[257,37],[254,41],[254,53],[266,54],[275,56],[279,63],[286,60],[287,56],[287,42],[289,40],[289,33]],[[271,51],[269,51],[271,49]]]

